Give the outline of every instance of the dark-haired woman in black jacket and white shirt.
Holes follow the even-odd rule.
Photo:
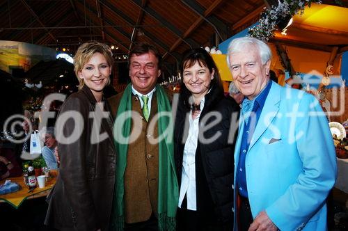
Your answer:
[[[232,230],[233,173],[239,106],[226,97],[205,49],[182,60],[175,116],[175,164],[180,184],[178,230]]]

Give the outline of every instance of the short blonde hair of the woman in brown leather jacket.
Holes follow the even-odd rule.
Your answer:
[[[106,58],[106,61],[110,65],[110,68],[112,70],[113,58],[110,47],[104,43],[97,41],[85,42],[83,45],[79,46],[74,56],[74,72],[76,74],[77,80],[79,80],[79,89],[84,86],[84,79],[81,79],[79,77],[79,71],[82,70],[84,65],[90,60],[90,58],[92,58],[93,54],[95,53],[102,54]]]

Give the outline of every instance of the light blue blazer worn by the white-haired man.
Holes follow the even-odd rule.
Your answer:
[[[241,113],[235,166],[244,124]],[[336,175],[333,138],[317,99],[272,83],[246,154],[253,217],[266,210],[280,230],[327,230],[326,196]],[[237,209],[235,230],[236,217]]]

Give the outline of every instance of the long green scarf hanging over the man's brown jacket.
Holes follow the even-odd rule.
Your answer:
[[[159,116],[159,182],[158,182],[158,218],[159,230],[175,230],[175,214],[179,198],[177,175],[174,162],[173,147],[173,118],[171,116],[171,104],[164,88],[156,86]],[[124,175],[127,165],[128,138],[131,132],[132,119],[132,84],[129,83],[118,106],[113,134],[116,146],[116,184],[113,199],[113,212],[111,216],[111,229],[123,230],[124,227]],[[170,116],[168,116],[170,115]],[[124,122],[122,126],[122,122]]]

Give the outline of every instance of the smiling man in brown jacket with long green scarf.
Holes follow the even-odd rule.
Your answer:
[[[175,230],[173,120],[168,96],[157,85],[160,66],[154,46],[135,45],[129,52],[132,83],[109,99],[117,150],[113,230]]]

